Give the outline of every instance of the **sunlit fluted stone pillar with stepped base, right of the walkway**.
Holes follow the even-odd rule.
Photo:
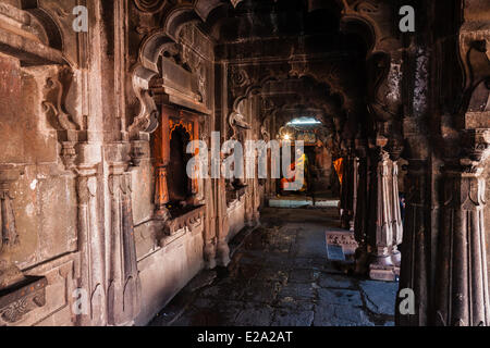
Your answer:
[[[393,281],[391,260],[393,225],[390,207],[389,154],[381,147],[370,150],[371,178],[369,191],[368,251],[371,253],[369,276],[373,279]]]

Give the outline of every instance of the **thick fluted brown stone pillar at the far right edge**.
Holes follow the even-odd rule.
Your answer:
[[[437,269],[436,324],[490,324],[486,229],[485,153],[489,129],[462,132],[467,156],[444,165],[444,214]]]

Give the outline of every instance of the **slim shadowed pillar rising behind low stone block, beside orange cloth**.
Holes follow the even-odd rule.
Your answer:
[[[347,149],[343,163],[343,183],[341,194],[342,228],[354,231],[355,196],[357,189],[357,163],[352,147]]]

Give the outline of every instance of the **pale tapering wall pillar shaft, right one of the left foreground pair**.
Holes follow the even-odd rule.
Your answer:
[[[114,164],[109,176],[111,195],[108,323],[128,325],[140,310],[140,281],[134,241],[132,178],[124,164]]]

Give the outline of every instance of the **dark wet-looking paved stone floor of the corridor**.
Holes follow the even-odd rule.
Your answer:
[[[152,326],[390,326],[397,283],[346,274],[327,258],[335,209],[273,209],[244,232],[225,270],[199,274]]]

